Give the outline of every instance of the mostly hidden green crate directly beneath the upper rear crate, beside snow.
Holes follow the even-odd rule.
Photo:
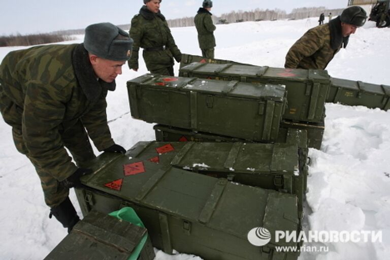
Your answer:
[[[325,130],[324,119],[320,123],[300,123],[283,120],[280,123],[280,128],[305,129],[307,131],[308,147],[321,149],[323,132]]]

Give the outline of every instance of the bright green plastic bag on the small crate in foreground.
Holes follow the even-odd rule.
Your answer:
[[[134,225],[142,226],[142,228],[145,228],[144,223],[142,223],[142,220],[138,217],[137,213],[131,207],[124,207],[120,210],[113,211],[109,213],[109,215],[125,220]],[[133,253],[130,255],[130,257],[128,257],[128,260],[137,260],[138,255],[140,254],[142,248],[144,247],[147,238],[148,238],[148,233],[146,233],[144,237],[141,239],[140,243],[136,246]]]

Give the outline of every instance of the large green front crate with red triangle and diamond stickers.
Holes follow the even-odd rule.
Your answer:
[[[111,212],[130,206],[142,219],[153,246],[213,259],[297,259],[296,246],[275,240],[276,230],[300,232],[297,197],[246,186],[129,155],[104,153],[91,161],[94,174],[83,176],[76,189],[83,214]],[[257,247],[248,232],[270,231],[270,243]]]

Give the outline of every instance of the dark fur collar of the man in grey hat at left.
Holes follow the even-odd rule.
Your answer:
[[[84,48],[84,44],[77,45],[73,50],[72,65],[77,82],[87,99],[92,103],[98,101],[103,92],[115,90],[115,80],[111,83],[104,82],[101,79],[99,81],[96,80],[96,75],[89,62],[88,51]]]

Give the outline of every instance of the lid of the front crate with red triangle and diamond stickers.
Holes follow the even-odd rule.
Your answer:
[[[99,157],[95,160],[100,160]],[[264,225],[270,231],[298,229],[294,195],[166,168],[138,158],[129,159],[127,155],[111,154],[110,157],[115,159],[109,159],[110,163],[100,169],[93,169],[91,161],[94,174],[88,179],[81,178],[86,187],[121,201],[201,223],[245,241],[248,231],[256,226]]]

